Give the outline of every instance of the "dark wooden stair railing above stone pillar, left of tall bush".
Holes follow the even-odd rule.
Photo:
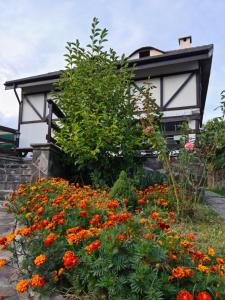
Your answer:
[[[65,115],[51,99],[48,100],[48,108],[49,113],[46,118],[46,122],[48,124],[48,133],[46,135],[46,140],[48,143],[55,144],[56,141],[52,137],[52,129],[54,129],[55,131],[60,130],[59,126],[55,122],[59,119],[65,118]],[[57,119],[53,119],[53,115],[55,115]]]

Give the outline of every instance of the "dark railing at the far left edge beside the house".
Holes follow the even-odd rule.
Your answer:
[[[0,153],[16,154],[19,145],[19,132],[16,129],[0,126]]]

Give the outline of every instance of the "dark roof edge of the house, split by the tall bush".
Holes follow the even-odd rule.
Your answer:
[[[131,55],[136,53],[137,51],[140,51],[140,49],[155,49],[158,50],[157,48],[154,47],[142,47],[137,50],[135,50]],[[146,64],[153,64],[157,62],[165,63],[169,60],[174,60],[174,59],[182,59],[182,58],[190,58],[194,56],[199,56],[199,59],[201,58],[201,55],[206,55],[208,58],[212,57],[212,50],[213,50],[213,45],[205,45],[205,46],[199,46],[199,47],[190,47],[186,49],[178,49],[178,50],[173,50],[173,51],[166,51],[161,55],[156,55],[156,56],[149,56],[149,57],[143,57],[139,59],[131,59],[129,60],[129,65],[132,66],[135,64],[135,66],[142,66]],[[161,50],[158,50],[161,51]],[[207,58],[205,57],[205,58]],[[203,57],[202,57],[203,58]],[[202,59],[201,58],[201,59]],[[198,59],[196,57],[196,59]],[[59,78],[60,71],[56,72],[50,72],[50,73],[45,73],[37,76],[31,76],[31,77],[26,77],[26,78],[20,78],[16,80],[11,80],[11,81],[6,81],[5,82],[5,88],[10,89],[13,88],[14,86],[17,85],[22,85],[22,84],[27,84],[27,83],[35,83],[38,81],[47,81],[47,80],[54,80]]]

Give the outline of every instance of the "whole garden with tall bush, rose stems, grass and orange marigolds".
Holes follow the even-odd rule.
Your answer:
[[[106,37],[94,18],[88,50],[68,43],[55,85],[69,180],[20,185],[5,203],[17,226],[0,247],[13,252],[16,290],[28,299],[224,299],[224,222],[204,203],[208,175],[225,164],[224,94],[221,117],[195,141],[183,123],[172,157],[154,87],[131,90],[128,60],[105,50]],[[143,148],[161,172],[143,170]]]

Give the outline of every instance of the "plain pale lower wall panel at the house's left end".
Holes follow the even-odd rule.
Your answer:
[[[46,123],[21,124],[20,148],[30,147],[31,144],[46,143],[48,126]]]

